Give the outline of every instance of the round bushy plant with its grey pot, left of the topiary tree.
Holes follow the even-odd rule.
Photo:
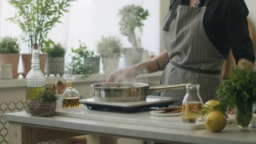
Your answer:
[[[112,36],[102,36],[101,40],[98,41],[97,52],[102,57],[105,73],[110,73],[118,69],[121,46],[120,40]]]

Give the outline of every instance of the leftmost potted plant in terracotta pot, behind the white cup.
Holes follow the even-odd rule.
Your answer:
[[[0,38],[0,64],[11,64],[13,67],[13,78],[17,78],[20,59],[20,47],[18,39],[11,37]]]

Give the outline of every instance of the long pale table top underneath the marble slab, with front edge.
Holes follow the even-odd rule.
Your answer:
[[[104,119],[95,120],[65,116],[39,118],[32,117],[26,112],[5,113],[3,118],[11,122],[90,131],[91,133],[102,133],[133,139],[188,143],[256,143],[256,129],[252,129],[251,131],[237,131],[236,127],[230,125],[227,125],[220,133],[212,133],[206,129],[173,129],[136,123],[110,122],[104,121]]]

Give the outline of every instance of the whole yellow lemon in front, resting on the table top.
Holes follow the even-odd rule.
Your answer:
[[[226,127],[226,117],[219,111],[213,111],[207,115],[205,126],[213,132],[221,131]]]

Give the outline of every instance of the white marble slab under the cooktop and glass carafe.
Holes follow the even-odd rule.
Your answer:
[[[152,109],[153,110],[153,109]],[[184,123],[181,116],[158,117],[150,115],[150,110],[138,112],[117,112],[117,111],[100,111],[89,110],[82,105],[80,109],[66,108],[57,109],[56,116],[93,119],[108,122],[119,122],[138,125],[149,125],[154,127],[174,128],[174,129],[203,129],[205,125],[200,123]]]

